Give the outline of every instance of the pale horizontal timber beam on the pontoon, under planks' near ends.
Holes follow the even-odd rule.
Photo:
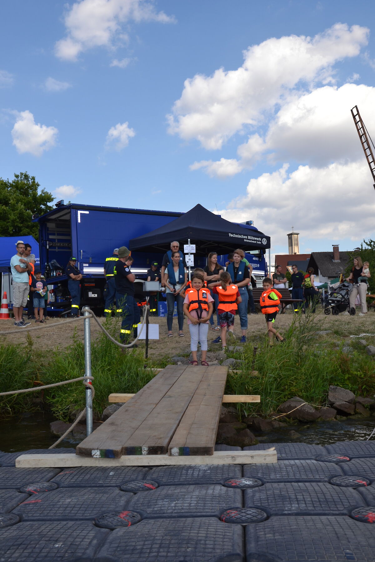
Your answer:
[[[119,459],[93,459],[74,453],[62,455],[21,455],[17,468],[66,468],[67,466],[165,466],[187,464],[264,464],[277,463],[275,450],[215,451],[210,456],[130,455]]]

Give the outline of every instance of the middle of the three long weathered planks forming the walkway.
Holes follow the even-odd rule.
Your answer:
[[[174,385],[124,442],[123,455],[164,455],[189,403],[210,367],[188,366]],[[211,368],[212,369],[212,368]]]

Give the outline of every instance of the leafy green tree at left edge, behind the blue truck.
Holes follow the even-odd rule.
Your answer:
[[[27,172],[15,174],[12,182],[0,178],[0,236],[34,236],[38,240],[39,224],[32,215],[43,215],[53,207],[55,197],[41,189],[34,176]]]

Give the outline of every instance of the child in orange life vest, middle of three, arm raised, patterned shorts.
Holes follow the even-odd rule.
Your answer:
[[[219,322],[222,329],[221,339],[223,349],[227,345],[227,327],[228,332],[232,332],[234,336],[234,315],[236,314],[237,305],[242,302],[240,291],[237,285],[232,283],[231,275],[228,271],[220,273],[220,281],[218,283],[210,283],[209,288],[214,294],[219,296]]]

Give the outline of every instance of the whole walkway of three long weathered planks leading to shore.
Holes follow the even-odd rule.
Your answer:
[[[168,365],[85,438],[76,454],[212,455],[227,372],[220,365]]]

